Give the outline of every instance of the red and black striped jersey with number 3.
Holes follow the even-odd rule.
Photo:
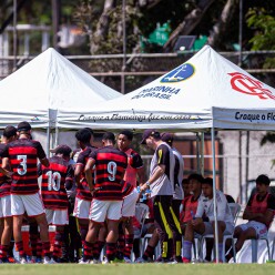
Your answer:
[[[11,194],[34,194],[38,185],[38,159],[45,159],[44,150],[38,141],[19,139],[3,149],[2,157],[9,157],[11,171]]]

